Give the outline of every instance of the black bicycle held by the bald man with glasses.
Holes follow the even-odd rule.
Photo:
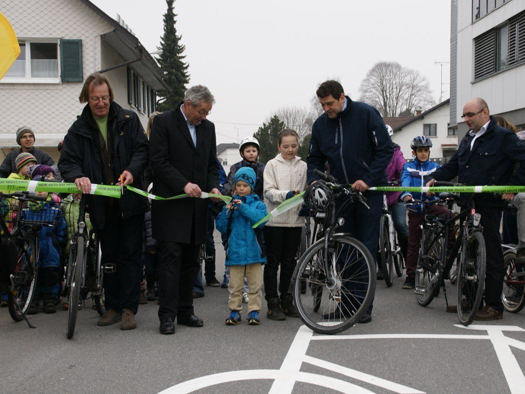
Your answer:
[[[436,182],[441,185],[460,185],[450,182]],[[459,265],[457,268],[457,314],[461,324],[468,326],[474,320],[481,303],[485,284],[485,240],[481,234],[479,224],[481,215],[476,213],[475,201],[471,201],[471,208],[453,214],[453,205],[459,201],[459,195],[454,193],[440,193],[438,200],[416,201],[407,205],[423,204],[425,212],[433,204],[447,206],[445,217],[427,214],[422,225],[421,248],[415,276],[415,295],[417,303],[428,306],[443,288],[445,302],[448,305],[445,279],[449,278],[450,269],[456,260],[458,252]],[[462,222],[460,233],[454,246],[449,251],[448,240],[450,225]]]

